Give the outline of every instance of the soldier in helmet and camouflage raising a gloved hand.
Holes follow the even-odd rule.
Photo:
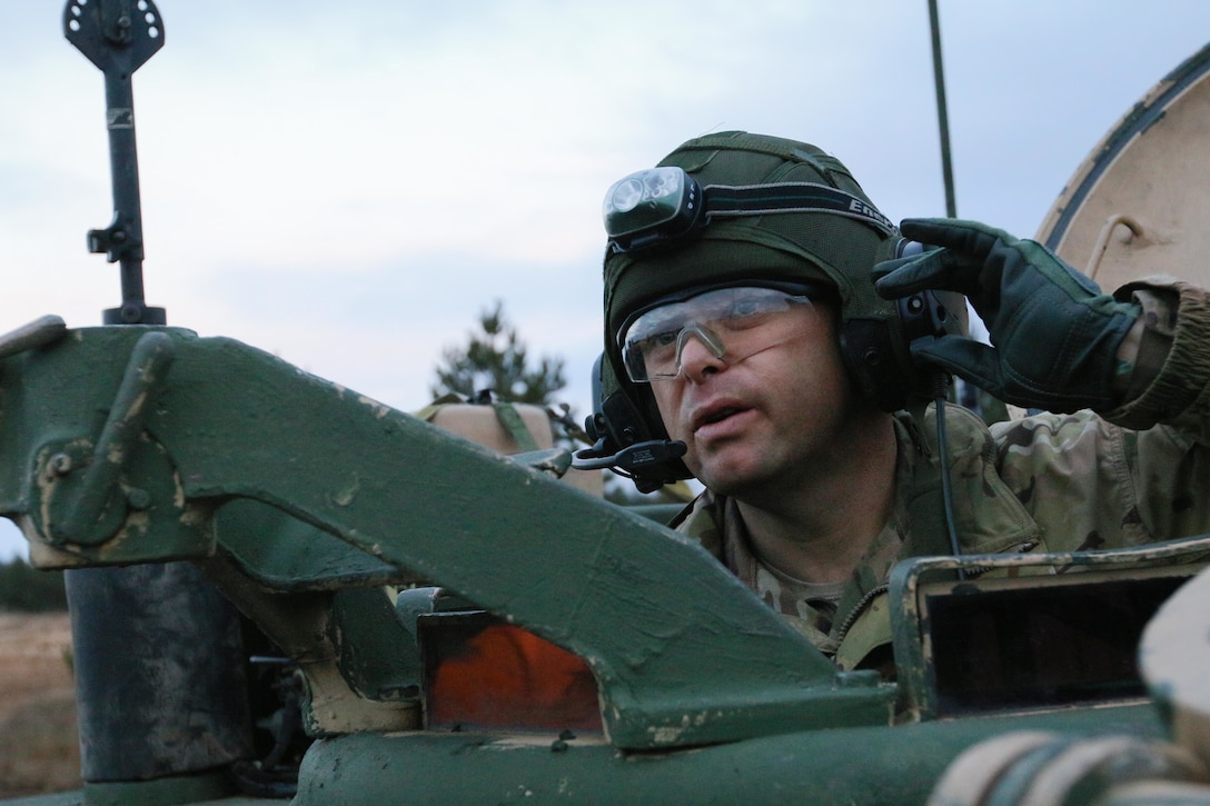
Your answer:
[[[893,674],[883,594],[904,557],[1210,531],[1202,289],[1111,297],[981,224],[897,230],[835,157],[743,132],[616,183],[605,219],[598,447],[656,457],[627,464],[644,490],[701,480],[674,526],[841,668]],[[953,292],[993,346],[964,335]],[[989,430],[950,404],[934,425],[949,373],[1047,413]]]

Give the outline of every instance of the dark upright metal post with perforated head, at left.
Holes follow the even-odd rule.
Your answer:
[[[131,76],[163,47],[163,21],[151,0],[68,0],[63,34],[105,74],[105,121],[114,186],[114,220],[88,230],[88,251],[104,252],[122,270],[122,306],[104,312],[105,324],[166,324],[162,307],[143,299],[143,208],[134,145]]]

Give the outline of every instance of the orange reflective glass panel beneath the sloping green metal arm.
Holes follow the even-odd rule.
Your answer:
[[[430,729],[601,731],[597,680],[578,656],[486,612],[416,623]]]

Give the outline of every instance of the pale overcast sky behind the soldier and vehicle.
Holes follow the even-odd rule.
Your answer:
[[[120,301],[102,74],[5,0],[7,332]],[[1205,0],[940,0],[958,214],[1033,235],[1100,138],[1210,41]],[[945,212],[926,0],[159,0],[134,75],[146,298],[403,410],[505,304],[590,409],[600,201],[698,134],[839,156]],[[24,552],[0,522],[0,557]]]

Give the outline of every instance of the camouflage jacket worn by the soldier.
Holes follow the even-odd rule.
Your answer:
[[[1119,292],[1130,293],[1145,312],[1137,374],[1147,382],[1131,390],[1127,404],[990,428],[969,410],[946,407],[946,461],[963,553],[1114,548],[1210,532],[1210,297],[1177,282]],[[789,580],[760,563],[738,507],[725,496],[703,493],[676,528],[841,668],[889,675],[891,568],[905,557],[950,551],[934,415],[932,407],[918,419],[895,415],[894,512],[835,591],[817,591],[828,586]]]

